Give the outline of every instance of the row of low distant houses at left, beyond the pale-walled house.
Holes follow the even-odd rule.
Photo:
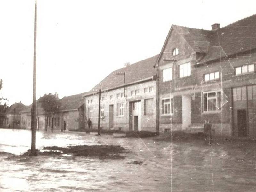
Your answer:
[[[70,130],[84,127],[84,102],[81,94],[60,99],[58,112],[46,116],[39,100],[36,101],[37,130]],[[58,98],[58,94],[55,93]],[[4,120],[5,128],[31,128],[32,104],[29,106],[15,103],[7,109]],[[14,122],[14,123],[13,123]],[[13,125],[14,124],[14,125]]]

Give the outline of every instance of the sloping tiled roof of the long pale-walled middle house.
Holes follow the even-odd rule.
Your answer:
[[[125,72],[125,84],[130,84],[143,79],[150,78],[156,75],[156,69],[153,67],[156,63],[158,55],[150,57],[148,59],[139,61],[137,63],[131,64],[127,67],[117,69],[110,73],[106,78],[104,78],[101,84],[101,90],[109,90],[116,88],[118,86],[124,85],[124,75],[121,73]],[[118,75],[119,74],[119,75]],[[95,92],[100,88],[99,84],[92,88],[89,94]]]

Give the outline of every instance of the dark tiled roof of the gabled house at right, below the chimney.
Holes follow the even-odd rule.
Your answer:
[[[256,14],[216,31],[178,25],[172,25],[170,31],[172,29],[176,30],[195,52],[205,55],[198,63],[229,57],[256,48]],[[170,35],[169,32],[168,36]]]

